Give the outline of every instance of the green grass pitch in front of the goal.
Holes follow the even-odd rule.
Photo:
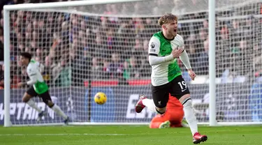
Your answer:
[[[201,144],[261,145],[262,126],[200,127]],[[1,145],[187,145],[189,128],[150,129],[146,125],[0,127]]]

